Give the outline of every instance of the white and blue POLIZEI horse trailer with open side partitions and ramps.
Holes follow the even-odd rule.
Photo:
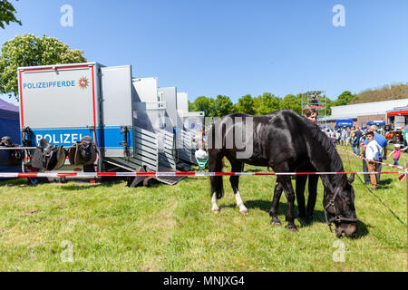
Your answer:
[[[175,169],[174,137],[166,128],[172,124],[163,123],[166,102],[156,78],[132,78],[131,65],[72,63],[20,67],[18,83],[21,133],[30,128],[35,143],[68,148],[91,136],[98,171]],[[78,170],[66,160],[61,170],[72,169]]]

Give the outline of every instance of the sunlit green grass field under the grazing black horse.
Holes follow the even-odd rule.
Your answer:
[[[362,170],[361,160],[339,152],[345,170]],[[363,176],[355,178],[361,220],[356,239],[337,239],[325,225],[320,181],[315,222],[296,220],[296,233],[269,224],[275,177],[240,178],[248,216],[238,213],[227,178],[218,215],[210,213],[206,178],[150,189],[129,189],[119,180],[35,187],[25,179],[2,181],[0,270],[406,271],[406,180],[397,177],[384,175],[375,192],[361,182]],[[284,226],[285,212],[283,196]],[[339,241],[344,262],[333,258],[343,248]]]

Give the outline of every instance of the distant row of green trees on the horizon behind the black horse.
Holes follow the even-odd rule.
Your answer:
[[[257,97],[246,94],[240,97],[237,103],[233,103],[226,95],[218,95],[215,98],[199,96],[194,102],[189,102],[189,111],[204,111],[207,117],[222,117],[233,112],[265,115],[282,109],[290,109],[301,114],[303,97],[303,93],[287,94],[280,98],[271,92],[264,92]],[[347,105],[354,99],[355,94],[350,91],[342,92],[335,101],[326,98],[327,115],[331,114],[331,107]]]

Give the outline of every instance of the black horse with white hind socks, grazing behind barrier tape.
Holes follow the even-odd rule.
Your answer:
[[[245,138],[243,132],[246,132]],[[244,163],[270,167],[275,172],[292,172],[306,165],[319,172],[345,172],[340,156],[325,133],[312,121],[290,110],[274,111],[264,116],[234,113],[216,121],[209,130],[209,171],[220,172],[224,157],[231,163],[233,172],[242,171]],[[239,212],[247,214],[248,209],[238,192],[238,179],[238,176],[231,176],[229,180]],[[329,223],[335,223],[336,236],[355,237],[355,192],[351,186],[355,176],[347,179],[345,174],[326,174],[321,175],[321,179],[325,187],[325,213]],[[212,212],[219,212],[217,199],[223,196],[222,177],[211,177],[210,183]],[[281,226],[277,207],[283,190],[287,197],[287,228],[296,230],[295,192],[288,175],[277,175],[269,211],[271,223]]]

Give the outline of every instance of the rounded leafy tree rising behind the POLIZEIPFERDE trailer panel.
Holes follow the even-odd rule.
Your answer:
[[[44,35],[16,35],[5,42],[0,55],[0,93],[18,101],[17,68],[20,66],[61,63],[86,63],[83,51],[70,49],[68,44]]]

